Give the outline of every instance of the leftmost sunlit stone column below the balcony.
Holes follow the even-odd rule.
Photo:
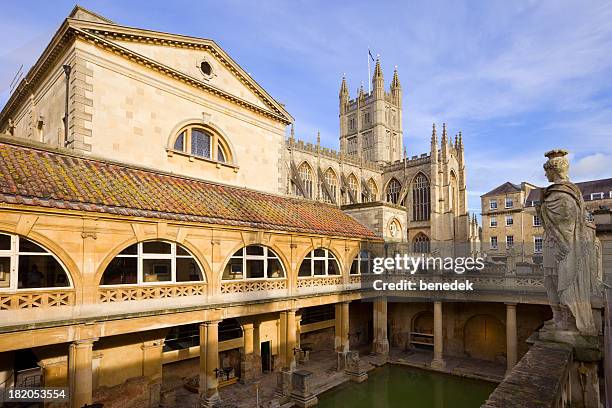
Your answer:
[[[77,340],[68,349],[68,383],[70,407],[81,408],[92,404],[93,386],[91,360],[97,339]]]

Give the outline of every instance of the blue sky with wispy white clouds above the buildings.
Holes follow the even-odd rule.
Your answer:
[[[470,208],[504,181],[544,184],[543,153],[566,148],[576,181],[612,177],[610,1],[83,1],[123,25],[211,38],[296,119],[299,138],[338,145],[338,90],[367,87],[367,49],[388,86],[397,65],[408,155],[431,124],[463,133]],[[74,3],[5,1],[0,105]],[[10,39],[7,40],[7,39]]]

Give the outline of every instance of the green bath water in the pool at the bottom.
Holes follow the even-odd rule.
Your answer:
[[[495,384],[387,364],[319,396],[319,408],[478,408]]]

